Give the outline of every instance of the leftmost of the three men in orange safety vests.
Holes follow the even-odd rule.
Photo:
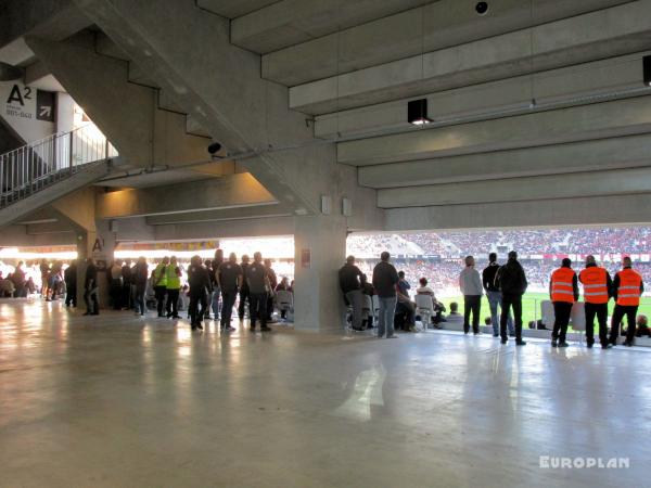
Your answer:
[[[572,306],[578,299],[578,281],[569,258],[563,259],[562,266],[551,273],[549,295],[551,296],[556,317],[551,333],[551,346],[567,347],[565,334],[567,334]]]

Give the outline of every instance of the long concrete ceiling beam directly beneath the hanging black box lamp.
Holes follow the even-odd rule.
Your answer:
[[[651,97],[342,142],[337,160],[365,166],[651,131]]]

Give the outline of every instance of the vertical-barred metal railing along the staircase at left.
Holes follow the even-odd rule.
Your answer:
[[[55,133],[0,155],[0,208],[118,153],[92,124]]]

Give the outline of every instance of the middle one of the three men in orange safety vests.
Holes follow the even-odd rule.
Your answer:
[[[578,274],[584,285],[586,310],[586,338],[588,348],[595,344],[595,316],[599,322],[599,342],[608,349],[608,300],[612,296],[613,281],[605,268],[597,266],[595,256],[586,257],[586,268]]]

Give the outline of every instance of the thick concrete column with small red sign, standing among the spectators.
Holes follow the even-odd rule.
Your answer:
[[[294,326],[324,332],[343,328],[344,301],[337,270],[346,253],[343,217],[295,218]]]

